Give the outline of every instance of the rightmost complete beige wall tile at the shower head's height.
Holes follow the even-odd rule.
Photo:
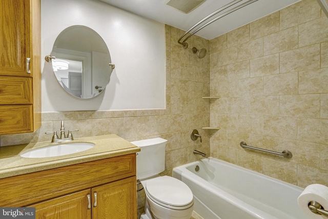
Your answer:
[[[320,44],[280,53],[280,73],[320,68]]]

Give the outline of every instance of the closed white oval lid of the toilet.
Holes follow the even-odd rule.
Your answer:
[[[154,200],[170,206],[186,206],[193,202],[193,193],[182,181],[171,176],[154,178],[146,184],[147,193]]]

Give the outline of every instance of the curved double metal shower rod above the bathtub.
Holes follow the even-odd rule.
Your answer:
[[[200,30],[203,29],[204,27],[206,27],[206,26],[212,24],[213,22],[217,21],[217,20],[220,19],[221,17],[224,17],[224,16],[226,16],[226,15],[228,15],[228,14],[234,12],[234,11],[237,11],[238,9],[243,8],[243,7],[245,7],[245,6],[249,5],[249,4],[252,4],[252,3],[254,3],[254,2],[257,2],[258,0],[249,0],[249,1],[245,2],[245,3],[242,3],[242,4],[236,6],[236,7],[232,8],[232,9],[230,9],[230,10],[228,10],[228,11],[222,13],[222,14],[219,14],[217,17],[211,19],[211,21],[208,21],[207,23],[205,23],[205,24],[203,24],[202,26],[198,27],[201,23],[203,23],[204,21],[206,21],[206,20],[209,19],[210,17],[212,17],[212,16],[214,16],[214,15],[216,15],[216,14],[222,12],[223,10],[225,10],[225,9],[227,9],[227,8],[233,6],[233,5],[235,5],[235,4],[237,4],[237,3],[241,2],[241,1],[243,1],[243,0],[235,0],[235,1],[232,1],[231,3],[229,3],[229,4],[227,4],[227,5],[225,5],[225,6],[221,7],[221,8],[219,8],[218,10],[216,10],[216,11],[214,11],[213,13],[209,14],[208,16],[204,17],[204,18],[201,19],[199,22],[197,22],[194,26],[192,26],[189,30],[187,30],[187,31],[186,31],[186,32],[185,32],[185,33],[179,38],[178,43],[181,44],[183,47],[185,47],[185,49],[187,49],[187,48],[188,48],[188,43],[186,43],[186,41],[187,41],[192,35],[194,35],[194,34],[197,33],[198,31],[200,31]],[[319,1],[319,0],[318,0],[318,1]],[[197,28],[197,27],[198,27],[198,28]],[[197,29],[194,30],[195,28],[197,28]],[[189,35],[188,35],[188,36],[187,36],[187,37],[181,42],[182,38],[185,37],[188,33],[189,33]]]

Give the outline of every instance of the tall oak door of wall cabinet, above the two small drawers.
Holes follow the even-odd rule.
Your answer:
[[[0,74],[31,76],[27,73],[30,52],[30,0],[0,2]]]

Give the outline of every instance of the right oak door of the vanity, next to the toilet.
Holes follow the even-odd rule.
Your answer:
[[[136,177],[125,178],[91,189],[92,218],[137,218]]]

